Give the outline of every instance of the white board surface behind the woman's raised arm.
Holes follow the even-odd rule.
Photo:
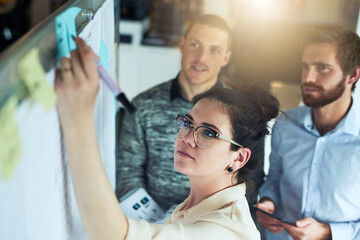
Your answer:
[[[79,34],[115,78],[114,2],[106,0]],[[101,48],[106,54],[101,54]],[[46,81],[54,86],[54,68]],[[97,141],[105,170],[115,186],[115,109],[112,93],[100,82],[95,105]],[[0,239],[86,239],[71,186],[55,105],[47,111],[31,98],[14,111],[21,157],[8,176],[0,164]],[[6,148],[6,143],[0,146]],[[1,161],[1,159],[0,159]],[[2,169],[3,168],[3,169]]]

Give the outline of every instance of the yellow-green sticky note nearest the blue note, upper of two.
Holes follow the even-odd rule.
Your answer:
[[[46,111],[55,105],[57,97],[46,80],[46,73],[40,64],[39,49],[33,48],[18,64],[19,75],[30,91],[32,98],[41,102]]]

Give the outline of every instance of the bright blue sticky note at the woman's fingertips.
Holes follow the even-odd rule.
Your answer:
[[[57,60],[69,56],[70,51],[76,49],[72,36],[76,36],[75,18],[80,11],[79,7],[70,7],[55,18]]]

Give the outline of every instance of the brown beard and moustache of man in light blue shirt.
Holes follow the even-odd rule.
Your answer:
[[[320,97],[318,98],[311,95],[304,95],[303,91],[301,91],[306,106],[320,108],[336,101],[342,96],[345,91],[345,76],[343,76],[342,80],[335,87],[326,92],[323,87],[311,83],[304,83],[301,85],[301,89],[303,89],[303,87],[312,87],[320,91]]]

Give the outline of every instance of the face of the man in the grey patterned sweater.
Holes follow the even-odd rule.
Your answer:
[[[194,24],[186,38],[180,39],[181,75],[191,84],[214,84],[221,67],[231,56],[228,34],[217,28]]]

